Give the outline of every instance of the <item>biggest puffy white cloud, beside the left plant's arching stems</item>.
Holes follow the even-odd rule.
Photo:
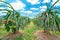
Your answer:
[[[25,4],[23,4],[21,1],[19,1],[19,0],[16,0],[15,2],[13,2],[13,3],[10,3],[12,6],[13,6],[13,8],[15,9],[15,10],[24,10],[24,7],[26,6]]]

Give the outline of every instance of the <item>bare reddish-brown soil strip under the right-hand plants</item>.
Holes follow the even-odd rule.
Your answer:
[[[60,40],[59,37],[45,34],[41,30],[38,30],[34,35],[36,36],[34,40]]]

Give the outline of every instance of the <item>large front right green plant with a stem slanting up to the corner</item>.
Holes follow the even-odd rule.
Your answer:
[[[58,22],[58,11],[54,11],[55,9],[53,9],[54,5],[58,2],[59,0],[57,0],[51,7],[48,6],[48,3],[46,3],[47,6],[47,10],[43,13],[41,13],[41,15],[39,16],[40,18],[42,18],[41,22],[43,24],[42,27],[44,27],[44,31],[49,32],[50,28],[52,28],[51,30],[54,30],[54,28],[58,29],[58,31],[60,31],[60,27],[59,27],[59,22]],[[52,10],[53,9],[53,10]],[[38,17],[38,19],[39,19]],[[55,30],[54,30],[55,31]]]

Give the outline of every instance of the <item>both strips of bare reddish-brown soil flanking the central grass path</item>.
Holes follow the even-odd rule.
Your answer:
[[[19,37],[23,34],[23,31],[20,30],[16,32],[16,34],[10,33],[2,38],[2,40],[16,40],[16,37]],[[43,30],[38,30],[34,33],[35,38],[33,40],[60,40],[59,36],[55,36],[54,34],[46,34],[43,33]]]

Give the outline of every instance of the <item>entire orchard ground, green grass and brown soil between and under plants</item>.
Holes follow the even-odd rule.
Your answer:
[[[6,32],[4,27],[0,28],[0,39],[2,40],[60,40],[60,32],[51,34],[43,33],[42,28],[36,28],[31,24],[30,27],[24,30],[19,30],[16,34],[11,31]]]

